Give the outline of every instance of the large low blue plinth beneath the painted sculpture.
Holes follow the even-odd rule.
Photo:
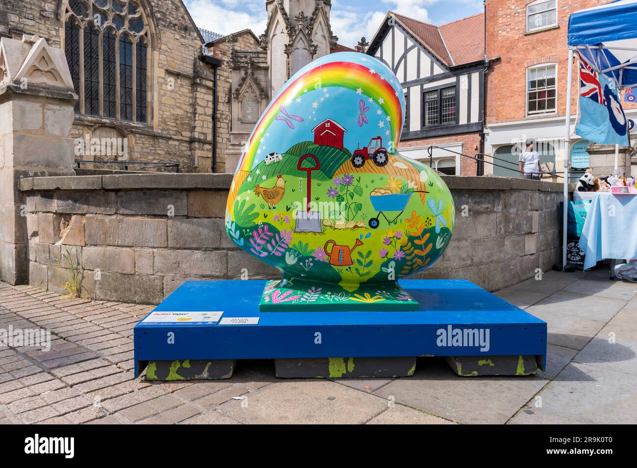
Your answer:
[[[534,355],[546,365],[547,323],[466,280],[399,281],[420,304],[403,312],[259,313],[265,283],[183,283],[135,326],[135,376],[149,360],[183,359]]]

